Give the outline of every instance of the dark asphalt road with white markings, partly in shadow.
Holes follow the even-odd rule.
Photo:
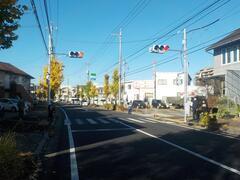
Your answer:
[[[48,179],[240,179],[240,140],[126,113],[64,106]]]

